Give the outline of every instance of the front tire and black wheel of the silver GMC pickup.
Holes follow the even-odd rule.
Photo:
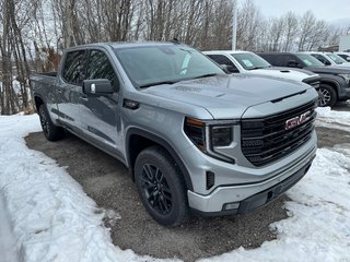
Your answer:
[[[185,182],[165,150],[150,146],[138,155],[135,181],[143,205],[159,224],[178,226],[188,218]]]

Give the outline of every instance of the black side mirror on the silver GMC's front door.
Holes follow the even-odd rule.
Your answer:
[[[88,96],[112,95],[116,92],[107,79],[95,79],[83,81],[83,93]]]

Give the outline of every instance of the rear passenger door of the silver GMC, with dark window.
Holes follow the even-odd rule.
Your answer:
[[[56,87],[59,120],[75,132],[81,130],[80,98],[83,96],[85,64],[86,50],[67,52]]]

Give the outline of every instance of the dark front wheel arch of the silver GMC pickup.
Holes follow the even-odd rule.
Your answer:
[[[192,190],[192,182],[189,176],[189,172],[180,159],[180,157],[177,155],[175,150],[164,140],[163,138],[160,138],[159,135],[155,135],[153,133],[150,133],[148,131],[138,129],[138,128],[130,128],[126,134],[126,153],[127,153],[127,163],[128,167],[131,174],[132,179],[135,179],[133,175],[133,167],[135,167],[135,162],[139,153],[151,146],[151,145],[160,145],[162,146],[175,160],[177,164],[185,183],[186,188],[188,190]]]

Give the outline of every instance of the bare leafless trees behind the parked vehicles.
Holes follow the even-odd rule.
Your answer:
[[[31,110],[30,74],[57,70],[70,46],[177,38],[199,50],[231,49],[232,8],[232,0],[2,0],[0,115]],[[313,50],[349,33],[312,11],[269,19],[252,0],[237,10],[241,50]]]

